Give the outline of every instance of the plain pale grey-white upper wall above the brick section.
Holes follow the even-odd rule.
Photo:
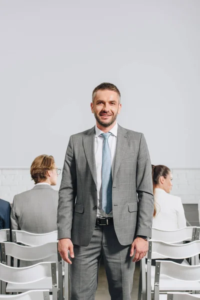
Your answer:
[[[102,81],[152,163],[199,168],[199,0],[0,0],[0,166],[63,164]]]

